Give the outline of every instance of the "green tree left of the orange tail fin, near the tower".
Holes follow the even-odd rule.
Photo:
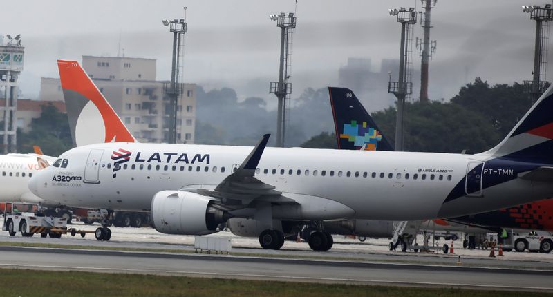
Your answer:
[[[67,115],[52,104],[44,104],[40,117],[32,119],[31,131],[17,130],[17,151],[32,153],[32,146],[40,146],[44,154],[57,156],[73,147]]]

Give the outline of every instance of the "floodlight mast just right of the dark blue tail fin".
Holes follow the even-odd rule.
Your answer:
[[[401,34],[401,46],[400,46],[400,71],[398,82],[388,82],[388,93],[393,93],[397,98],[397,115],[395,119],[395,151],[403,151],[403,108],[405,105],[405,98],[412,93],[413,86],[411,82],[408,82],[407,77],[407,54],[409,48],[409,30],[413,26],[413,23],[417,22],[417,12],[415,8],[409,8],[409,11],[405,8],[399,10],[388,10],[388,14],[397,16],[396,21],[402,24]]]

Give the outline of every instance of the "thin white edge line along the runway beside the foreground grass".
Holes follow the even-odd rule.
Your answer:
[[[58,266],[58,265],[26,265],[26,264],[10,264],[0,263],[0,266],[9,267],[24,267],[24,268],[42,268],[42,269],[78,269],[78,270],[92,270],[92,271],[129,271],[144,273],[158,273],[158,274],[195,274],[203,276],[231,276],[231,277],[243,277],[243,278],[277,278],[281,280],[319,280],[319,281],[332,281],[332,282],[366,282],[366,283],[385,283],[390,285],[420,285],[420,286],[440,286],[440,287],[474,287],[482,289],[513,289],[515,291],[523,290],[553,290],[553,287],[520,287],[509,285],[475,285],[475,284],[462,284],[453,282],[413,282],[413,281],[400,281],[400,280],[362,280],[355,278],[315,278],[310,276],[279,276],[271,274],[227,274],[222,272],[200,272],[200,271],[174,271],[174,270],[157,270],[157,269],[132,269],[132,268],[109,268],[109,267],[78,267],[78,266]]]

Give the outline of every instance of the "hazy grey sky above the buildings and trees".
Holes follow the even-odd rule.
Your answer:
[[[521,5],[545,3],[550,2],[439,0],[432,12],[431,39],[438,40],[438,51],[430,66],[431,93],[449,99],[476,76],[509,84],[530,79],[535,22]],[[374,70],[382,58],[397,59],[400,24],[387,10],[415,5],[420,10],[420,1],[299,0],[295,95],[308,86],[337,84],[348,57],[370,58]],[[158,79],[168,79],[172,37],[161,20],[183,18],[183,6],[185,81],[229,86],[241,98],[271,98],[265,93],[268,82],[277,80],[279,28],[268,15],[294,11],[292,0],[15,1],[2,12],[0,34],[21,34],[26,46],[24,97],[37,97],[40,77],[58,77],[56,59],[117,55],[119,37],[124,55],[158,59]],[[422,37],[420,24],[415,36]],[[418,50],[413,58],[413,69],[419,68]]]

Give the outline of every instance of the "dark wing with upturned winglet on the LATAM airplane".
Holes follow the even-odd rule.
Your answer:
[[[261,155],[267,146],[270,134],[263,135],[261,141],[255,146],[250,155],[242,162],[240,167],[227,176],[214,189],[182,189],[194,191],[201,195],[209,195],[221,199],[225,205],[248,205],[252,202],[295,203],[295,200],[286,198],[282,192],[275,190],[270,184],[265,184],[255,178],[255,170],[261,160]]]

